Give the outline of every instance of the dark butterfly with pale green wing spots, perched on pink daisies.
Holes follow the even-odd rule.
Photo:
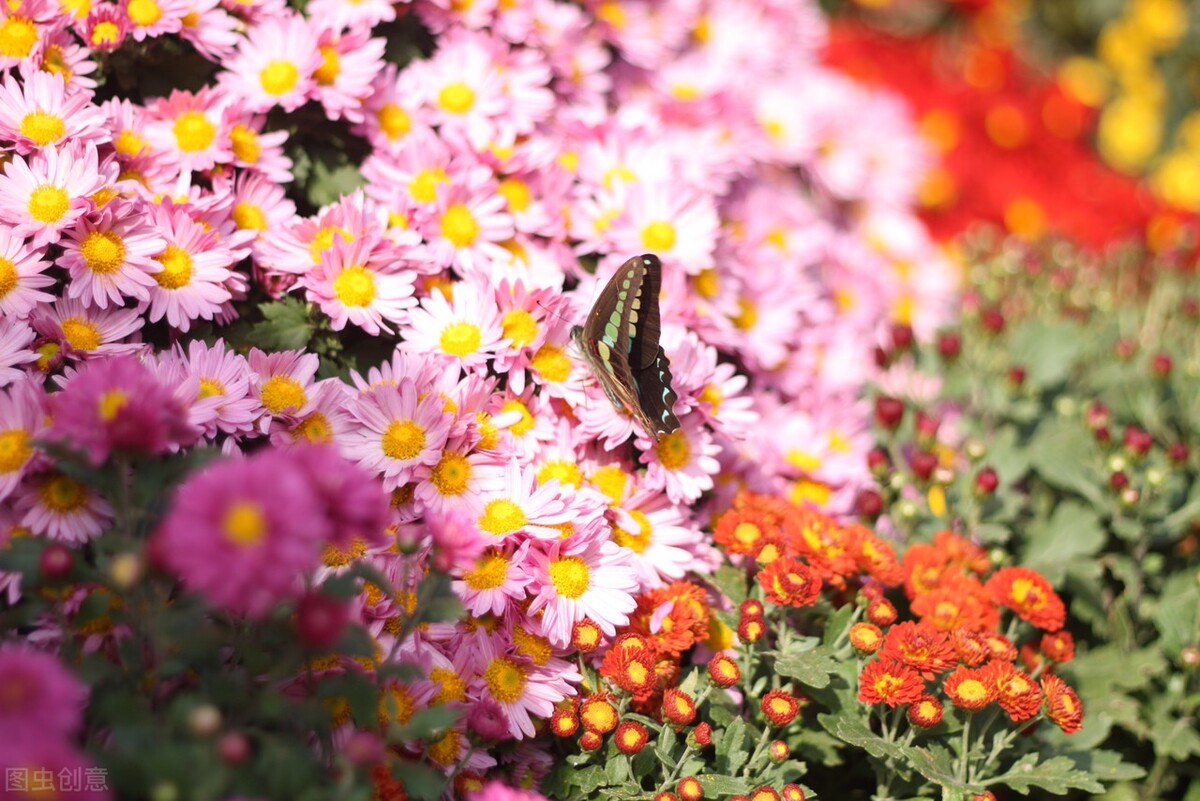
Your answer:
[[[636,255],[620,265],[571,338],[618,411],[659,440],[679,428],[671,362],[659,347],[662,263]]]

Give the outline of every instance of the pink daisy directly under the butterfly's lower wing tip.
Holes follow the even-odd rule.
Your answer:
[[[713,434],[695,415],[685,415],[679,422],[677,430],[662,435],[656,444],[644,436],[637,439],[641,462],[648,465],[647,487],[666,488],[676,504],[695,501],[712,489],[713,476],[721,469],[716,460],[721,447],[713,441]]]

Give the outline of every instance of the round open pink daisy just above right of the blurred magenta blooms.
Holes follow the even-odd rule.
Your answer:
[[[338,436],[338,445],[347,458],[382,475],[385,489],[395,489],[438,463],[452,422],[444,406],[437,396],[418,401],[408,379],[360,393],[349,405],[359,424]]]

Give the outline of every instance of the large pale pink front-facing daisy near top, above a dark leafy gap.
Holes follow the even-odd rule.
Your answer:
[[[317,35],[295,12],[263,18],[246,34],[226,64],[218,85],[251,112],[275,106],[292,112],[308,98],[313,73],[322,66]]]

